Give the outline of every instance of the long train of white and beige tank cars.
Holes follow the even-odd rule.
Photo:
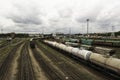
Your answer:
[[[80,50],[78,48],[70,47],[54,41],[44,40],[44,42],[46,44],[49,44],[50,46],[61,49],[78,58],[81,58],[91,64],[98,65],[102,67],[102,70],[104,69],[105,71],[112,72],[120,77],[120,59],[113,58],[110,56],[106,57],[104,55],[93,53],[87,50]]]

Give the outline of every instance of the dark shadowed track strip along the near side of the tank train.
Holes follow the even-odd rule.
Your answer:
[[[40,47],[41,48],[41,47]],[[54,48],[54,47],[52,47],[52,48]],[[120,80],[120,76],[119,75],[115,75],[115,74],[113,74],[112,72],[110,72],[109,70],[103,70],[103,68],[102,67],[100,67],[100,66],[97,66],[97,65],[95,65],[95,64],[93,64],[93,63],[90,63],[90,62],[87,62],[87,61],[85,61],[85,60],[83,60],[83,59],[80,59],[80,58],[77,58],[76,56],[74,56],[74,55],[69,55],[69,54],[66,54],[66,52],[64,52],[64,51],[62,51],[62,50],[60,50],[60,49],[57,49],[57,48],[54,48],[54,49],[56,49],[56,51],[58,51],[58,52],[60,52],[60,53],[63,53],[64,55],[66,55],[67,57],[70,57],[70,58],[72,58],[75,62],[77,62],[77,63],[79,63],[80,62],[80,64],[82,63],[83,64],[83,66],[85,66],[86,68],[88,68],[90,71],[95,71],[95,72],[99,72],[99,74],[101,75],[103,75],[104,76],[104,78],[105,78],[105,80]],[[45,51],[47,51],[47,50],[45,50]],[[48,52],[48,53],[50,53],[50,52]],[[51,55],[49,55],[49,56],[51,56]],[[53,57],[53,55],[52,55],[52,57]],[[88,67],[89,66],[89,67]],[[72,69],[72,68],[71,68]],[[65,69],[66,70],[66,69]],[[108,71],[108,72],[106,72],[106,71]],[[75,72],[75,70],[74,70],[74,72]]]

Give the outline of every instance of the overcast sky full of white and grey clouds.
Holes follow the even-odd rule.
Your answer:
[[[120,31],[120,0],[0,0],[3,32]]]

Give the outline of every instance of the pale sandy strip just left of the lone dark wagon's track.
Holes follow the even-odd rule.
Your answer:
[[[33,53],[30,48],[29,48],[29,54],[32,61],[32,66],[33,66],[36,80],[48,80],[44,72],[42,71],[41,67],[39,66],[38,62],[36,61],[35,57],[33,56]]]

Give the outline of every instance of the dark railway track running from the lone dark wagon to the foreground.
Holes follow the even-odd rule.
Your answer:
[[[49,63],[39,54],[38,51],[32,50],[36,60],[38,61],[39,65],[44,70],[46,76],[49,80],[64,80],[63,76],[51,66]]]

